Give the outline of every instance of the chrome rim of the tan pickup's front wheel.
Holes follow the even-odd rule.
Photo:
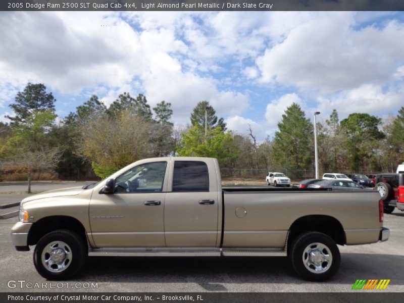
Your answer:
[[[72,263],[72,249],[63,241],[52,241],[43,248],[41,261],[48,271],[62,272]]]

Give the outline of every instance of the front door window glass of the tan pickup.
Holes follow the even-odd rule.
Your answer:
[[[159,192],[163,190],[167,162],[145,163],[115,180],[115,192]]]

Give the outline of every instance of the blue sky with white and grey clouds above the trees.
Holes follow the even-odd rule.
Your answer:
[[[189,123],[207,100],[228,129],[273,137],[297,103],[387,119],[404,106],[403,12],[0,12],[0,121],[28,82],[59,120],[96,94],[142,93]]]

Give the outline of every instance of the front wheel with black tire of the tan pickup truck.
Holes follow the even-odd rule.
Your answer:
[[[48,251],[52,251],[52,257]],[[55,257],[57,261],[62,259],[60,263],[53,263]],[[68,229],[47,233],[38,241],[34,250],[35,268],[48,280],[66,280],[72,277],[83,266],[86,258],[87,244],[77,233]],[[62,268],[59,269],[59,266]]]

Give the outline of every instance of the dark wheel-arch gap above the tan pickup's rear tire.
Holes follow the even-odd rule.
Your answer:
[[[297,236],[309,231],[324,233],[340,245],[346,243],[345,231],[337,219],[328,215],[308,215],[296,219],[290,226],[287,240],[288,247]]]

